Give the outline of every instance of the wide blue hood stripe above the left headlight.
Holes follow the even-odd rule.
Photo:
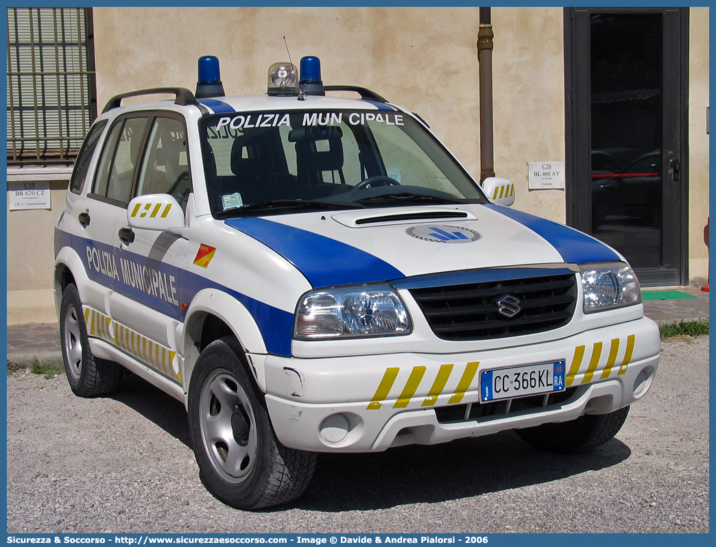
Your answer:
[[[233,218],[226,224],[286,258],[314,289],[405,277],[377,256],[301,228],[253,217]]]

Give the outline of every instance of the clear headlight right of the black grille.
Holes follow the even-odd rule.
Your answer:
[[[581,264],[584,313],[641,304],[642,288],[624,262]]]

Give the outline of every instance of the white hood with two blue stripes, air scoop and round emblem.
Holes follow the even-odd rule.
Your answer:
[[[314,288],[480,268],[621,260],[574,228],[498,205],[301,213],[226,224],[284,256]]]

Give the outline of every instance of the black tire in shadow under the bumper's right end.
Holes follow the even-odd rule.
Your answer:
[[[624,425],[628,414],[629,407],[624,407],[609,414],[585,414],[571,422],[543,424],[515,432],[540,450],[556,454],[576,454],[592,450],[611,440]]]

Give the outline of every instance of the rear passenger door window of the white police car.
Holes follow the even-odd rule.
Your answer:
[[[112,126],[102,150],[93,193],[120,203],[129,202],[147,123],[147,118],[137,117],[120,120]]]

